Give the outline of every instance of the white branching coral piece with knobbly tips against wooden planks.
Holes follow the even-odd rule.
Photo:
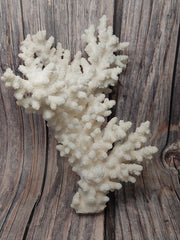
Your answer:
[[[127,56],[115,54],[128,46],[119,43],[106,17],[100,19],[97,37],[94,26],[82,36],[88,58],[70,52],[46,32],[28,35],[22,42],[19,70],[24,79],[7,69],[2,80],[14,89],[17,104],[29,113],[42,114],[55,131],[61,156],[79,176],[79,189],[72,200],[78,213],[102,211],[109,191],[122,182],[135,182],[143,160],[152,158],[154,146],[144,146],[150,134],[149,122],[128,134],[131,122],[112,118],[106,125],[115,101],[106,94],[126,67]]]

